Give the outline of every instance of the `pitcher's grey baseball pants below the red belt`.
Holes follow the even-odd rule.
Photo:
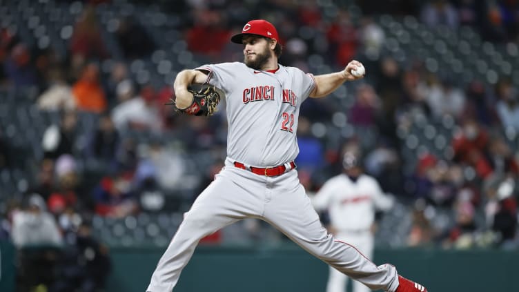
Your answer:
[[[226,166],[197,197],[162,255],[146,291],[170,292],[203,237],[245,218],[264,220],[293,242],[372,290],[398,287],[394,266],[377,266],[353,246],[326,232],[309,197],[292,170],[265,177]]]

